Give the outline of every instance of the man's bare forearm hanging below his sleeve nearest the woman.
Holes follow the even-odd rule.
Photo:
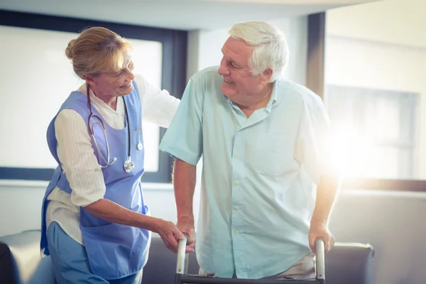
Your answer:
[[[173,168],[173,185],[178,209],[178,218],[194,217],[192,200],[194,197],[197,166],[176,159]]]

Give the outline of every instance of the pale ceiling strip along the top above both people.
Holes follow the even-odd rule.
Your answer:
[[[376,0],[1,0],[0,9],[191,31],[372,1]]]

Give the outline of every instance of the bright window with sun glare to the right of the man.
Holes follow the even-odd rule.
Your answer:
[[[337,163],[351,178],[414,178],[418,94],[329,85]]]

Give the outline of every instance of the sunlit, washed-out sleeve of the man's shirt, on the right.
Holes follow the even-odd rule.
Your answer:
[[[322,176],[339,176],[332,161],[330,133],[324,104],[320,102],[314,107],[305,104],[297,135],[295,159],[317,184]]]

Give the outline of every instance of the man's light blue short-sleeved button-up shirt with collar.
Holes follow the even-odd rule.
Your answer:
[[[217,70],[192,76],[160,150],[192,165],[203,155],[200,267],[226,278],[275,275],[310,253],[327,114],[309,89],[278,80],[247,118],[222,94]]]

